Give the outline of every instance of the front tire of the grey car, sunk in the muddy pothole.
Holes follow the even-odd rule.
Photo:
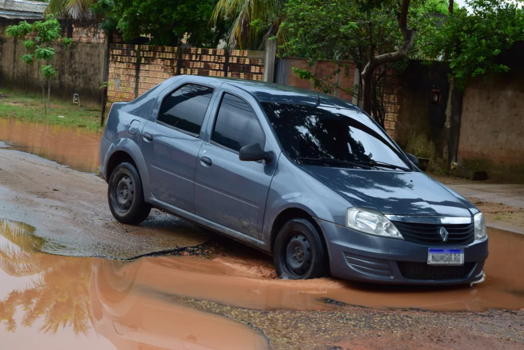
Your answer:
[[[320,232],[302,218],[289,220],[278,232],[274,261],[278,276],[290,280],[324,277],[329,265]]]

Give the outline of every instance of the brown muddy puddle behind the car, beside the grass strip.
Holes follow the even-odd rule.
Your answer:
[[[0,141],[10,149],[35,154],[50,161],[94,173],[99,166],[102,133],[61,125],[0,119]]]

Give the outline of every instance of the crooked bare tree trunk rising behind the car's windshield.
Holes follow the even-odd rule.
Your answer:
[[[403,60],[408,55],[409,50],[413,47],[413,39],[416,30],[408,29],[409,3],[410,0],[402,0],[402,7],[398,19],[398,26],[404,39],[402,47],[396,52],[372,56],[362,71],[362,109],[368,114],[372,113],[373,108],[373,78],[375,76],[375,69],[380,65],[384,65],[384,63]],[[372,55],[373,54],[375,54],[375,52],[372,52]]]

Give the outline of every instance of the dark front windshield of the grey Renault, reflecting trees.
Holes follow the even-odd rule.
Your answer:
[[[263,107],[283,151],[298,164],[410,170],[395,144],[362,112],[275,102]]]

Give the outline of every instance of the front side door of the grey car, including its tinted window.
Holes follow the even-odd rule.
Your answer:
[[[249,102],[248,102],[249,101]],[[252,105],[256,100],[223,84],[199,152],[195,174],[195,213],[243,234],[260,238],[264,210],[276,162],[242,162],[242,146],[266,135]],[[268,146],[269,147],[269,146]]]

